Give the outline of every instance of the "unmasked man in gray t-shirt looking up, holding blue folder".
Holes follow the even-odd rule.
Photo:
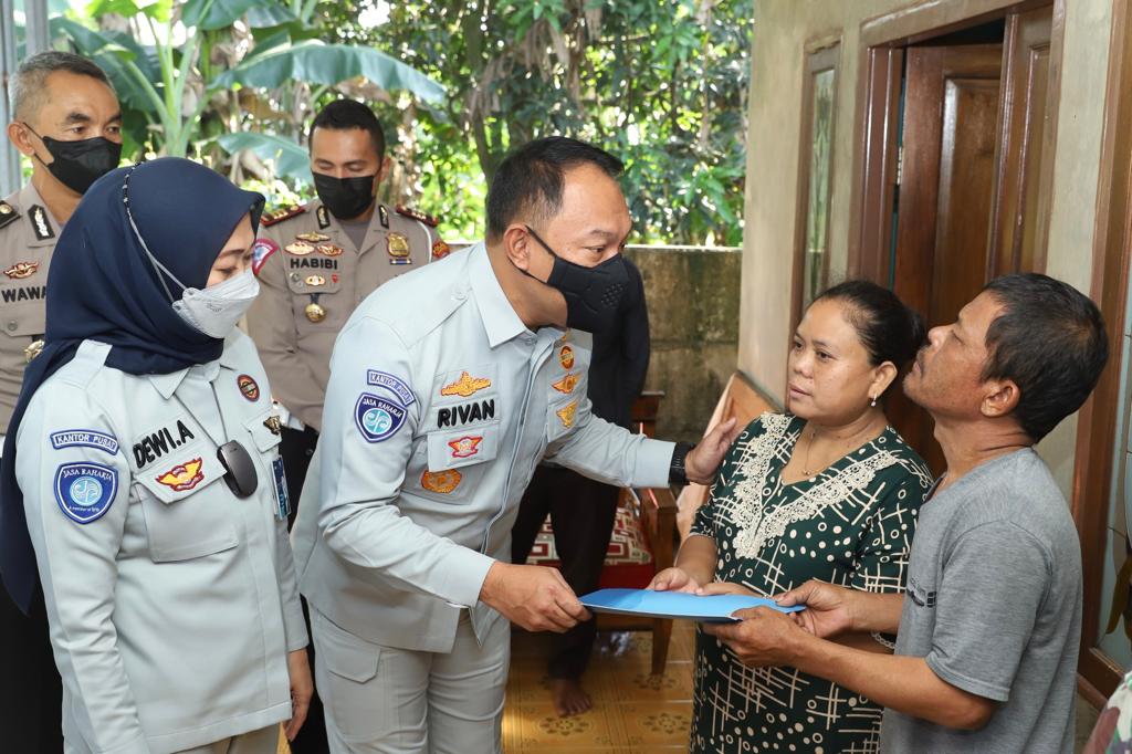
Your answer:
[[[928,340],[903,387],[935,419],[947,469],[920,508],[907,593],[811,581],[779,597],[805,605],[792,618],[740,610],[704,631],[746,665],[884,705],[883,752],[1069,754],[1081,552],[1031,446],[1092,392],[1108,357],[1100,312],[1065,283],[1009,275]],[[898,633],[895,653],[855,649],[868,633]]]

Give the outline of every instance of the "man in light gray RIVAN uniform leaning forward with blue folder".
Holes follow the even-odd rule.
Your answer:
[[[591,413],[583,331],[628,282],[620,170],[573,139],[520,148],[487,243],[386,283],[338,337],[295,534],[332,751],[501,749],[508,620],[588,616],[557,571],[507,563],[541,459],[658,486],[709,480],[730,444],[734,422],[691,449]]]

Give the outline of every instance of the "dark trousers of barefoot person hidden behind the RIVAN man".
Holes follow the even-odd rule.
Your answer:
[[[575,594],[592,592],[601,576],[619,496],[620,490],[616,487],[569,469],[540,465],[518,506],[518,519],[511,533],[511,562],[526,562],[549,513],[563,577]],[[581,678],[590,662],[597,633],[597,620],[591,618],[564,634],[551,634],[550,677]]]

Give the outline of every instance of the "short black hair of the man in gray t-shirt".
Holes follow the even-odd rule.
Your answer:
[[[1018,385],[1014,413],[1036,443],[1097,386],[1108,361],[1105,320],[1089,297],[1046,275],[1005,275],[984,290],[1003,311],[987,328],[983,379]]]

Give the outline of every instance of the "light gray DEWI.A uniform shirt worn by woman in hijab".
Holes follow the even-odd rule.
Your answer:
[[[109,351],[84,342],[19,426],[68,751],[179,752],[286,720],[307,634],[255,346],[237,333],[218,361],[140,376]],[[229,440],[249,497],[223,479]]]

